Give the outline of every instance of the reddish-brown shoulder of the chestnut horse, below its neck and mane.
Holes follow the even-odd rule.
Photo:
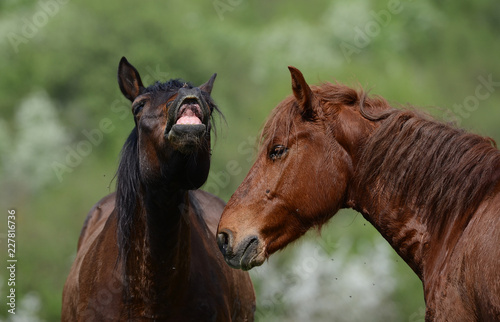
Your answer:
[[[436,321],[500,319],[499,244],[500,193],[496,193],[474,214],[445,268],[426,280],[432,297],[426,302]]]

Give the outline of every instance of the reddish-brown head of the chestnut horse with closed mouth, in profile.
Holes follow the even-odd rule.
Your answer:
[[[234,268],[261,265],[344,206],[352,153],[370,130],[356,91],[311,88],[298,69],[289,69],[293,95],[267,121],[257,160],[219,222],[219,248]]]

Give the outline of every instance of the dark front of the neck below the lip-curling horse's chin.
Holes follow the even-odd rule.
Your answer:
[[[191,258],[188,193],[159,191],[141,198],[126,268],[130,297],[150,312],[182,298]]]

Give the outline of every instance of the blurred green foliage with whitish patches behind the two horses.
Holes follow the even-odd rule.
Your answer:
[[[500,140],[499,18],[500,3],[487,0],[2,1],[0,200],[1,211],[14,208],[18,214],[21,313],[31,320],[59,319],[62,286],[85,215],[114,190],[119,151],[133,127],[116,82],[122,56],[148,84],[170,78],[201,84],[218,73],[213,96],[227,125],[218,126],[205,187],[227,200],[253,162],[264,120],[291,93],[287,65],[300,68],[311,84],[360,84],[394,104],[423,106],[438,117],[444,113]],[[488,78],[493,80],[489,95],[478,98],[476,88]],[[87,144],[68,171],[54,170],[54,162],[67,164],[71,151],[83,149],[86,133],[102,130],[103,120],[111,122],[111,130],[101,131],[102,140]],[[230,161],[237,163],[238,175],[227,174]],[[4,233],[6,225],[0,227]],[[390,252],[394,274],[388,279],[395,286],[380,296],[380,310],[390,310],[394,321],[423,319],[420,281],[362,216],[341,212],[321,236],[308,234],[264,265],[286,271],[300,263],[294,258],[300,245],[318,245],[327,237],[350,241],[346,259],[361,256],[372,261],[365,265],[377,265],[366,247],[369,253],[382,242]],[[338,245],[334,242],[324,256],[335,258]],[[0,271],[2,298],[5,274]],[[290,312],[298,308],[293,304],[292,309],[291,300],[266,302],[262,292],[273,275],[258,269],[252,274],[262,295],[258,319],[295,320]],[[345,305],[356,308],[359,302],[344,293],[349,287],[336,288],[338,274],[332,271],[324,281],[330,287],[324,293],[331,301],[344,296]],[[276,294],[283,294],[286,283],[274,278]],[[0,318],[10,318],[4,307]],[[324,319],[318,314],[309,317]]]

